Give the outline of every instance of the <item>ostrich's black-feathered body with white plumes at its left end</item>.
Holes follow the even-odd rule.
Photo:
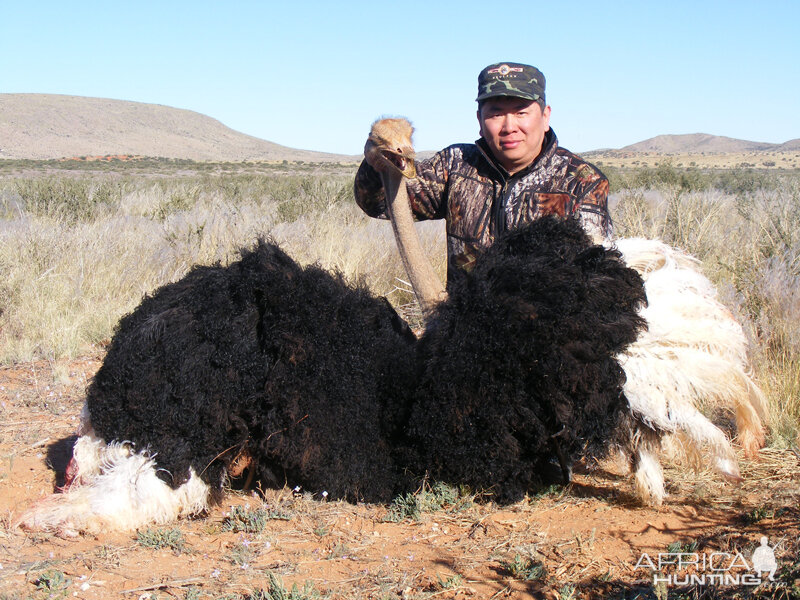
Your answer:
[[[380,151],[403,169],[398,147]],[[499,241],[448,298],[434,290],[416,340],[384,299],[260,242],[120,321],[65,490],[22,523],[164,523],[247,467],[265,486],[351,501],[388,501],[425,475],[521,499],[554,465],[608,451],[630,414],[615,357],[643,302],[616,250],[548,218]]]

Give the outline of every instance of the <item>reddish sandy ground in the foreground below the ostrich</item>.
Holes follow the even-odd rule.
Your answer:
[[[172,548],[146,547],[136,533],[62,539],[23,531],[16,520],[52,493],[63,473],[84,391],[99,365],[99,357],[90,357],[0,368],[3,600],[269,598],[254,590],[280,597],[278,585],[289,597],[293,584],[292,598],[314,597],[302,595],[304,586],[322,598],[666,598],[651,573],[636,568],[643,553],[656,560],[673,544],[670,551],[738,552],[750,561],[761,536],[775,548],[777,583],[699,586],[684,597],[800,595],[800,458],[792,450],[767,449],[756,461],[742,460],[741,485],[670,467],[670,496],[659,508],[636,505],[626,476],[593,465],[566,488],[511,506],[462,500],[400,522],[386,520],[385,505],[281,489],[232,491],[206,515],[144,532],[181,536]],[[259,533],[226,531],[237,505],[276,518]],[[527,580],[529,561],[544,574]],[[678,593],[688,594],[678,586],[669,597]]]

